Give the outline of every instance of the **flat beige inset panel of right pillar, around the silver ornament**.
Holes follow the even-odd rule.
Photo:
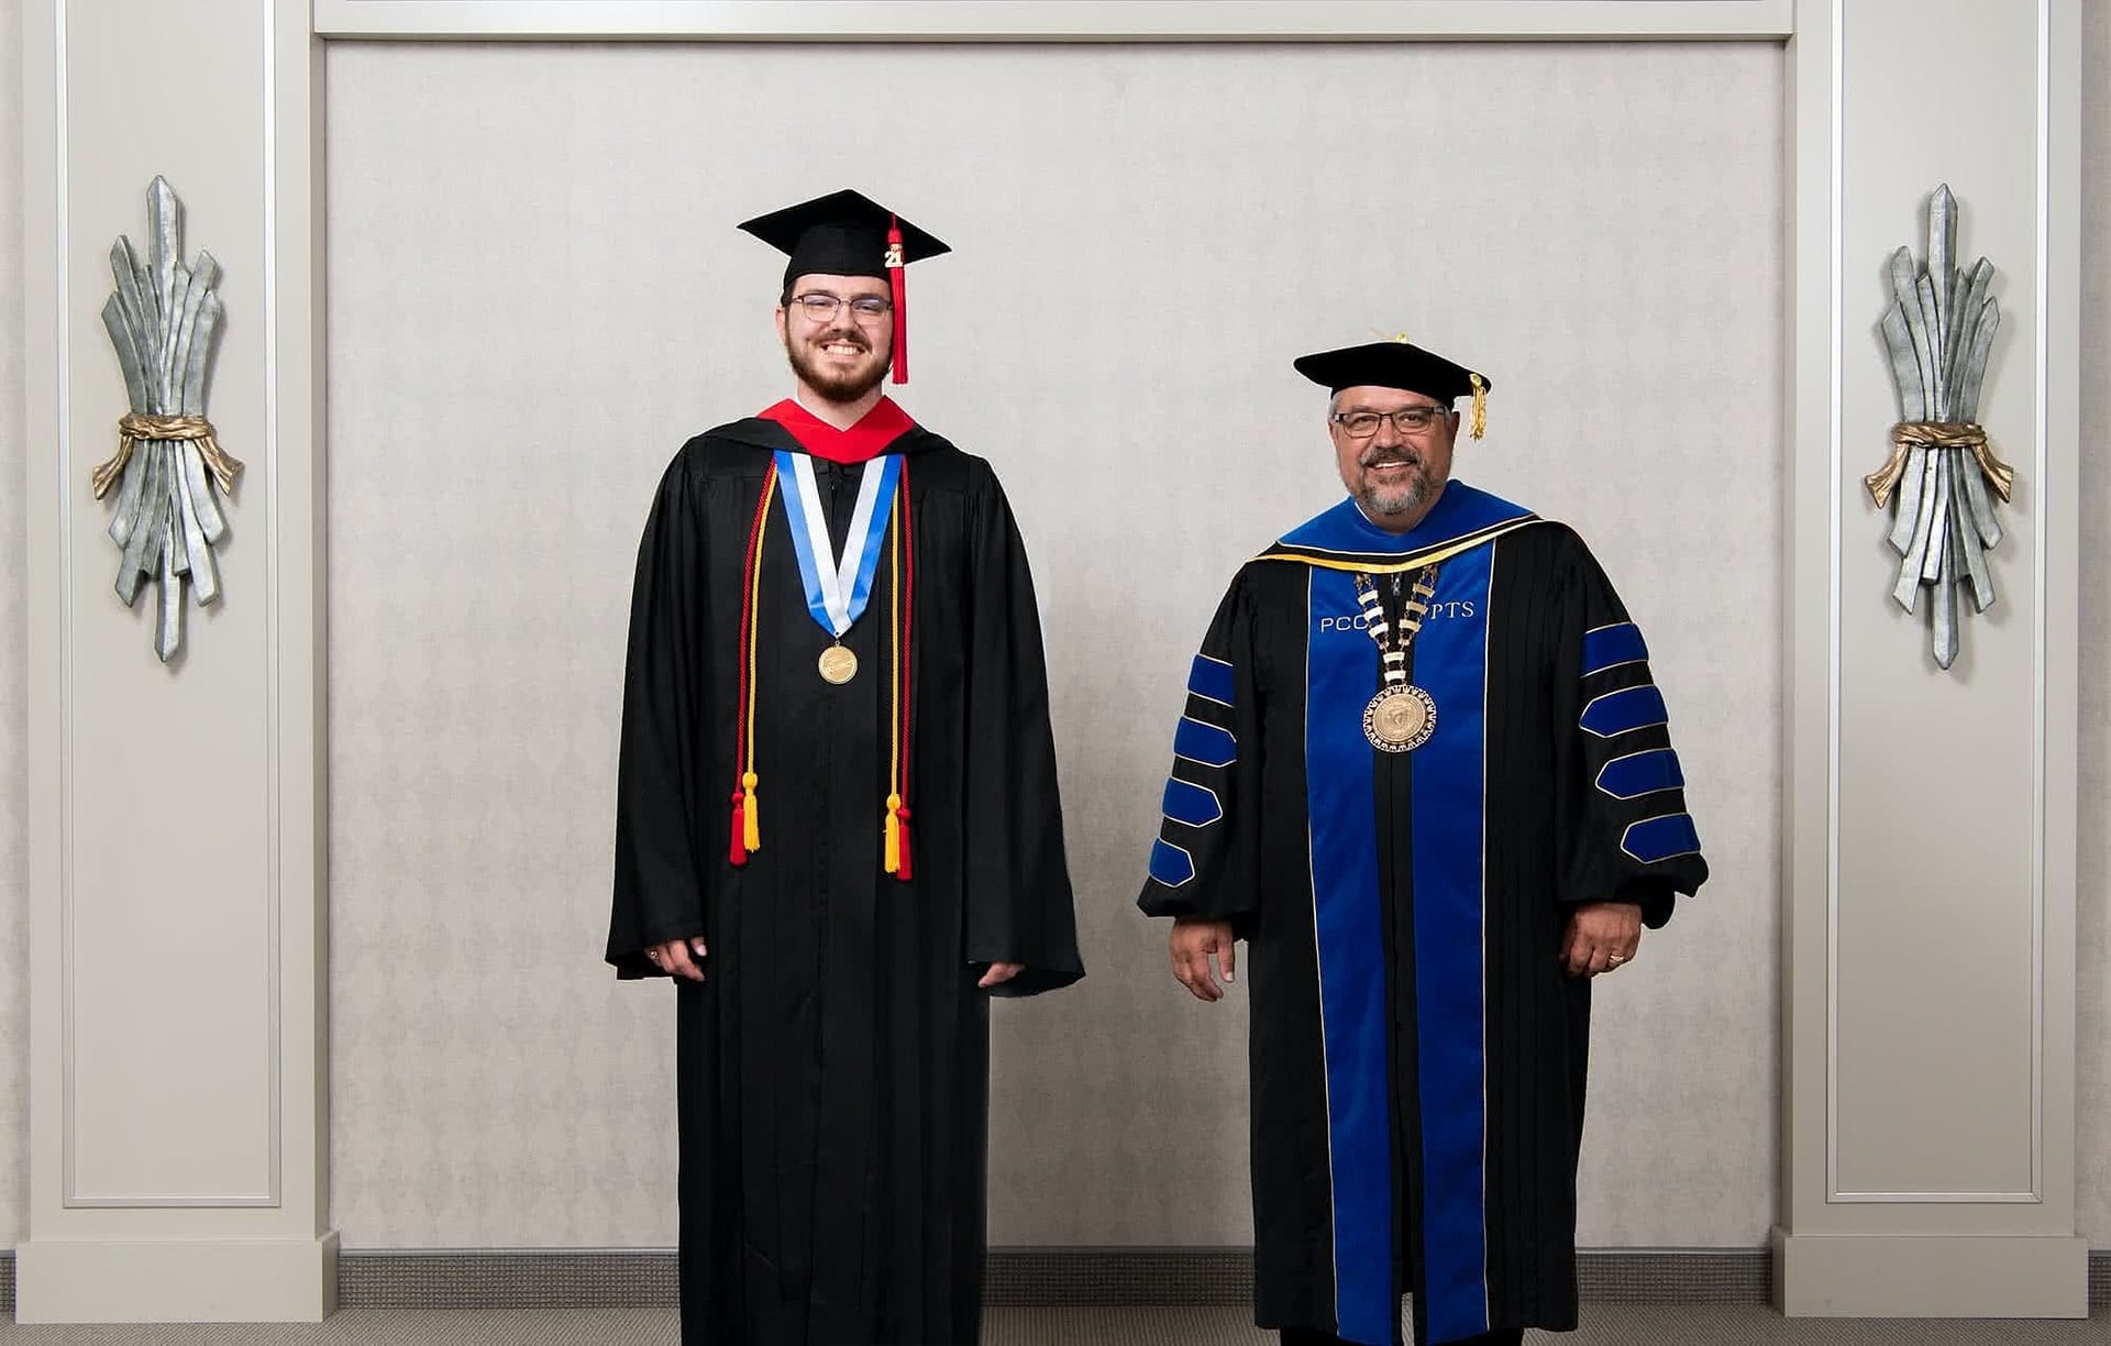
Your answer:
[[[2033,11],[2010,8],[2016,21],[1976,30],[1978,59],[2033,70]],[[1963,266],[1984,255],[1997,268],[2001,331],[1978,420],[2008,460],[2031,464],[2037,243],[2033,211],[2018,205],[2037,192],[2027,152],[2037,135],[2033,103],[1938,99],[1917,105],[1917,135],[1898,135],[1898,89],[1923,76],[1929,55],[1925,42],[1894,40],[1915,13],[1910,4],[1845,8],[1843,42],[1856,61],[1841,114],[1856,203],[1841,243],[1849,361],[1889,367],[1875,331],[1891,300],[1885,266],[1900,245],[1925,259],[1923,205],[1948,181]],[[1885,200],[1896,209],[1862,207]],[[1853,348],[1856,333],[1866,333],[1866,350]],[[1883,464],[1896,422],[1889,378],[1845,382],[1849,483]],[[2033,981],[2031,793],[1989,795],[1972,785],[2033,776],[2037,521],[2029,500],[2018,489],[2018,506],[2003,511],[2008,536],[1991,555],[1999,603],[1961,618],[1948,673],[1927,654],[1927,601],[1906,614],[1889,597],[1898,578],[1898,553],[1883,540],[1889,515],[1860,489],[1845,504],[1834,945],[1841,1192],[2033,1190],[2031,998],[2018,994]]]

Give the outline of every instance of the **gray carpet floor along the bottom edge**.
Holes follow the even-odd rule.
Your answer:
[[[1583,1331],[1526,1333],[1528,1346],[2111,1346],[2111,1310],[2077,1323],[1796,1319],[1758,1304],[1585,1304]],[[667,1308],[350,1308],[312,1327],[25,1327],[6,1346],[669,1346]],[[1245,1308],[992,1308],[982,1346],[1273,1346]]]

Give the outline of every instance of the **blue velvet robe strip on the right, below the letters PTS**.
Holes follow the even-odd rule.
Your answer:
[[[1444,561],[1435,601],[1478,616],[1423,622],[1414,650],[1414,681],[1438,703],[1435,734],[1410,757],[1421,1224],[1431,1342],[1488,1331],[1482,722],[1492,561],[1492,546]]]

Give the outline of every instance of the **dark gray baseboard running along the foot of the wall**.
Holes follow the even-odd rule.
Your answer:
[[[1577,1257],[1585,1300],[1754,1304],[1767,1249],[1600,1251]],[[984,1300],[1018,1304],[1245,1304],[1245,1249],[990,1249]],[[593,1308],[673,1304],[671,1251],[338,1253],[340,1308]],[[2111,1249],[2090,1253],[2090,1308],[2111,1306]],[[0,1249],[0,1316],[15,1253]]]

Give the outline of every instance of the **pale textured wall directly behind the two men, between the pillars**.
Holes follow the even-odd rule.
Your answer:
[[[733,224],[847,184],[958,249],[904,403],[999,466],[1051,648],[1091,975],[996,1013],[992,1241],[1248,1238],[1243,998],[1191,1002],[1131,899],[1222,584],[1338,496],[1288,361],[1406,329],[1497,384],[1461,475],[1651,633],[1716,867],[1602,983],[1581,1236],[1763,1243],[1780,49],[327,59],[348,1247],[673,1238],[671,1006],[600,966],[629,570],[676,445],[790,390]]]

